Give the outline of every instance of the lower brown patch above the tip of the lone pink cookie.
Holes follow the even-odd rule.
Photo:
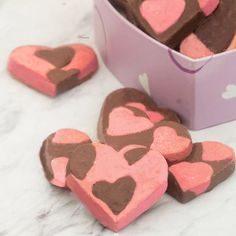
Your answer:
[[[79,74],[79,70],[77,69],[71,69],[68,71],[64,71],[61,69],[54,69],[48,72],[47,76],[48,79],[54,83],[59,84],[62,81],[70,80],[70,79],[77,79],[77,75]]]

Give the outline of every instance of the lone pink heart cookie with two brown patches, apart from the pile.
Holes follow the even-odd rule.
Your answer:
[[[56,96],[89,79],[97,70],[92,48],[72,44],[55,49],[23,46],[10,55],[8,70],[19,81],[49,96]]]

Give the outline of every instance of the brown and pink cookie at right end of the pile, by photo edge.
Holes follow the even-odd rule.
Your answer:
[[[191,155],[169,167],[167,192],[186,203],[212,190],[235,169],[234,150],[219,142],[196,143]]]

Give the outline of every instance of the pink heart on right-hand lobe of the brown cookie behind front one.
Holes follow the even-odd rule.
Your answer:
[[[159,127],[154,131],[151,149],[158,150],[169,162],[184,160],[192,151],[191,139],[178,136],[170,127]]]

